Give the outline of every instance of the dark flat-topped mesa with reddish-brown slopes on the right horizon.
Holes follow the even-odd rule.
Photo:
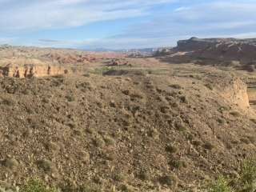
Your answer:
[[[183,54],[182,54],[183,53]],[[166,51],[170,62],[198,62],[214,65],[254,65],[256,39],[190,38],[178,41],[178,46]]]

